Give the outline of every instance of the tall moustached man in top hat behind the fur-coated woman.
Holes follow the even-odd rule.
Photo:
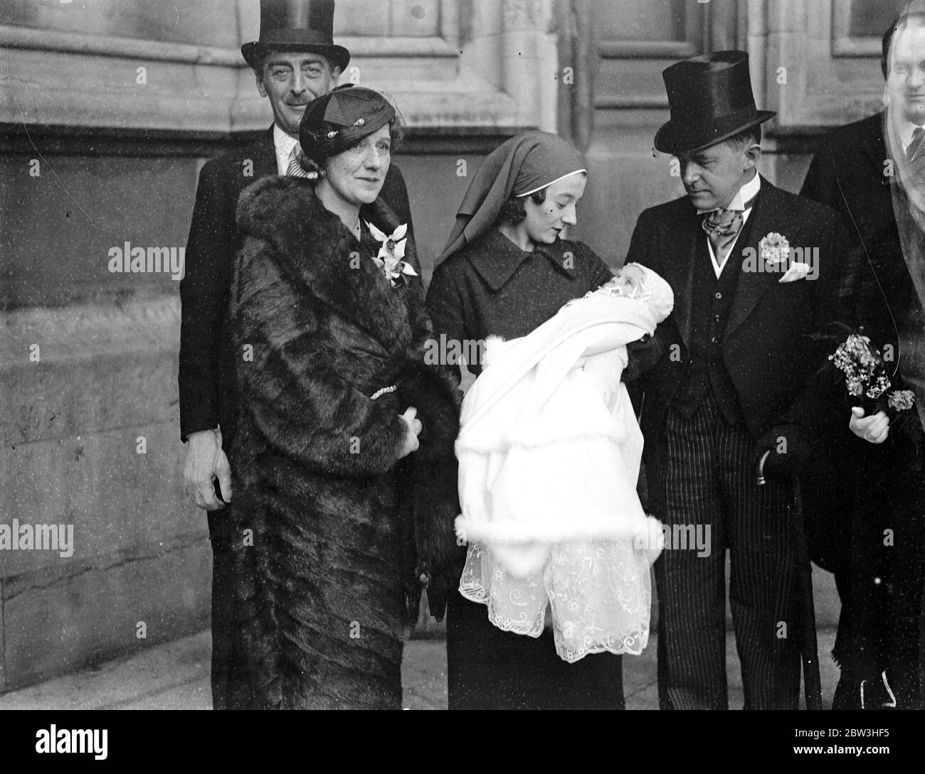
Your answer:
[[[234,353],[222,325],[231,267],[239,247],[235,209],[243,188],[265,175],[305,175],[297,161],[299,122],[305,105],[338,85],[350,52],[333,42],[333,0],[261,0],[260,38],[241,46],[253,68],[257,91],[273,109],[274,123],[252,146],[203,165],[196,189],[186,273],[180,282],[180,435],[187,442],[184,471],[188,496],[209,511],[213,550],[213,707],[246,705],[248,681],[232,641],[233,595],[228,581],[231,502],[226,451],[234,431]],[[409,224],[411,211],[395,164],[381,196]],[[216,485],[217,480],[217,485]],[[220,496],[219,496],[220,490]]]

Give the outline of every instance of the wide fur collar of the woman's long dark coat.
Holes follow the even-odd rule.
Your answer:
[[[380,198],[360,216],[390,234],[398,218]],[[410,338],[406,295],[420,294],[420,279],[393,288],[337,215],[314,195],[314,184],[294,177],[263,177],[240,195],[238,228],[243,240],[259,239],[300,295],[309,296],[358,324],[386,349],[395,351]],[[413,240],[406,260],[416,265]]]

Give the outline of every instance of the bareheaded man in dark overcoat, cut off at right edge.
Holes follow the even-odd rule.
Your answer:
[[[925,13],[921,3],[883,35],[884,109],[827,134],[800,193],[831,205],[857,244],[846,271],[857,322],[892,351],[893,387],[916,394],[911,453],[883,412],[841,417],[833,450],[844,492],[827,569],[842,602],[833,657],[841,670],[833,709],[922,707],[919,662],[925,585]],[[916,203],[916,200],[919,203]],[[850,418],[849,418],[850,417]],[[896,417],[894,417],[895,419]],[[850,433],[847,432],[850,429]],[[889,534],[892,540],[884,540]]]

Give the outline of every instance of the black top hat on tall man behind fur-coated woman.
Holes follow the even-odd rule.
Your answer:
[[[334,0],[260,0],[260,39],[240,53],[255,67],[268,51],[304,51],[327,56],[343,70],[350,52],[334,44]]]

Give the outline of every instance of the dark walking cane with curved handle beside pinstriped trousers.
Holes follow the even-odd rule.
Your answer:
[[[771,450],[761,454],[758,461],[758,485],[763,487],[764,464]],[[822,682],[819,673],[819,642],[816,638],[816,606],[812,598],[812,565],[809,563],[809,548],[803,529],[803,496],[800,479],[794,476],[794,520],[791,524],[796,556],[796,599],[800,603],[799,625],[800,655],[803,659],[803,688],[806,693],[807,709],[822,708]]]

